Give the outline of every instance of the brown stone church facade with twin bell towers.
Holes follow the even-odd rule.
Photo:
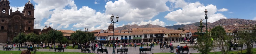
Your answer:
[[[34,30],[34,6],[29,1],[24,8],[10,8],[8,0],[0,1],[0,42],[11,43],[19,33],[36,33]],[[12,11],[17,9],[17,11]],[[18,9],[23,9],[22,12]],[[20,29],[21,27],[21,29]],[[15,33],[16,32],[16,33]]]

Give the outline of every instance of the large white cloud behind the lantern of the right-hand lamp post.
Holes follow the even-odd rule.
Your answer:
[[[183,2],[184,0],[170,0],[174,3]],[[172,11],[168,13],[164,18],[166,18],[169,21],[175,21],[174,25],[177,24],[190,24],[194,22],[199,22],[200,18],[204,19],[205,16],[205,9],[208,11],[208,21],[207,22],[215,22],[221,18],[226,18],[223,14],[217,13],[217,8],[213,4],[209,4],[207,6],[204,6],[200,2],[194,2],[194,3],[188,3],[185,6],[181,5],[174,5],[174,7],[179,7],[181,9]]]

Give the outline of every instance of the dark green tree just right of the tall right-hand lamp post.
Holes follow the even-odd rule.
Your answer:
[[[211,30],[212,37],[214,38],[213,43],[217,44],[220,48],[222,54],[228,54],[228,48],[230,47],[230,42],[233,36],[226,35],[225,29],[222,26],[215,26]]]

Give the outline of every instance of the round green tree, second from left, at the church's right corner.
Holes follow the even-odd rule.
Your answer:
[[[34,47],[34,43],[37,43],[39,41],[39,36],[35,33],[29,33],[26,35],[26,39],[30,42],[32,42],[32,45]]]

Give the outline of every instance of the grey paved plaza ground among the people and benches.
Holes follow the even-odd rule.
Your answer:
[[[184,42],[183,42],[184,43]],[[176,51],[175,50],[175,46],[177,46],[177,45],[180,45],[180,46],[185,46],[185,44],[181,44],[181,43],[173,43],[173,45],[174,45],[174,52]],[[193,50],[193,48],[191,48],[191,45],[190,44],[188,44],[188,46],[189,46],[189,50],[190,50],[190,53],[199,53],[199,52],[197,52],[198,50]],[[150,46],[149,46],[150,47]],[[151,53],[163,53],[163,52],[167,52],[167,53],[170,53],[170,48],[167,48],[167,49],[163,49],[162,48],[162,51],[160,50],[160,45],[156,45],[156,46],[154,46],[155,48],[154,48],[154,50],[152,50],[151,51]],[[105,48],[105,46],[103,46],[103,48]],[[117,47],[117,48],[120,48],[120,47]],[[139,54],[139,46],[137,46],[137,48],[134,48],[134,47],[127,47],[128,48],[128,50],[129,50],[129,54]],[[147,46],[144,46],[143,48],[147,48]],[[256,48],[256,45],[254,44],[253,45],[253,48]],[[0,51],[3,51],[2,49],[2,47],[0,47]],[[244,47],[244,49],[245,49],[245,47]],[[27,50],[27,49],[21,49],[21,51],[23,51],[23,50]],[[109,47],[107,47],[107,50],[108,50],[108,53],[112,53],[113,52],[113,47],[110,47],[110,49],[109,49]],[[232,50],[233,50],[233,48],[232,48]],[[15,50],[12,50],[12,51],[18,51],[18,48],[15,48]],[[55,51],[49,51],[49,49],[39,49],[38,51],[42,51],[42,52],[55,52]],[[216,51],[220,51],[219,49],[218,49],[218,47],[217,47],[217,49],[216,49]],[[81,49],[64,49],[64,52],[81,52]],[[117,54],[117,50],[115,49],[115,52],[116,52],[116,54]],[[212,51],[211,51],[212,52]],[[95,52],[95,53],[97,53],[97,51]],[[120,52],[118,52],[118,53],[120,53]],[[145,52],[144,52],[145,53]],[[146,53],[147,54],[150,54],[150,51],[146,51]],[[186,52],[184,52],[184,53],[186,53]],[[104,53],[100,53],[100,54],[106,54],[106,52],[104,52]]]

